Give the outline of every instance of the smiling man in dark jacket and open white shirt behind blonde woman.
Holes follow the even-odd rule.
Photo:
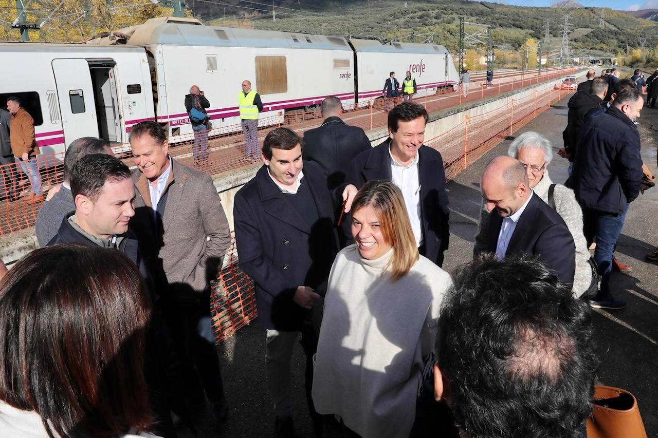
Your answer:
[[[441,266],[450,235],[448,197],[443,158],[422,144],[428,120],[416,103],[397,105],[388,113],[390,138],[357,155],[345,182],[361,187],[370,180],[388,180],[400,187],[420,254]]]

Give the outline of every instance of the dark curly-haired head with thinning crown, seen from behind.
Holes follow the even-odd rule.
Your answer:
[[[592,413],[591,310],[529,256],[455,272],[436,337],[434,396],[470,438],[576,438]]]

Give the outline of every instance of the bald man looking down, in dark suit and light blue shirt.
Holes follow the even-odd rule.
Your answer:
[[[498,260],[537,256],[571,287],[576,272],[574,239],[561,216],[532,192],[524,165],[511,157],[493,158],[484,169],[480,189],[487,210],[497,212],[489,216],[487,251]]]

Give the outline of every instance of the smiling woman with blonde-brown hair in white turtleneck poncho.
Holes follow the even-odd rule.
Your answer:
[[[450,276],[418,254],[405,201],[373,180],[352,205],[355,244],[332,266],[315,357],[313,402],[348,433],[409,437]]]

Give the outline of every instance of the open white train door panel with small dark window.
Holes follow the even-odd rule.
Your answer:
[[[98,137],[96,105],[86,59],[53,59],[64,144],[80,137]]]

